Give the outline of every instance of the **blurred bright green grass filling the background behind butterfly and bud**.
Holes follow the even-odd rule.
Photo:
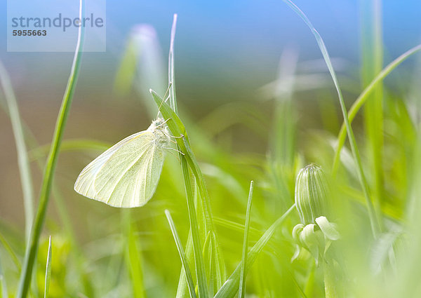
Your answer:
[[[173,41],[174,34],[171,35]],[[378,32],[376,36],[378,39]],[[170,78],[174,76],[173,46],[171,42]],[[178,297],[194,297],[192,283],[197,283],[198,271],[190,246],[194,223],[187,217],[183,187],[183,180],[187,179],[191,191],[189,208],[195,212],[199,229],[199,235],[195,236],[199,239],[196,251],[199,250],[201,256],[196,257],[203,258],[206,273],[200,274],[205,276],[202,282],[210,288],[209,296],[218,291],[216,297],[235,297],[241,288],[245,290],[245,297],[323,297],[323,270],[314,264],[309,253],[301,250],[297,259],[290,261],[295,250],[291,231],[299,222],[294,208],[290,207],[295,175],[306,163],[316,162],[325,170],[334,169],[330,178],[335,222],[340,226],[342,239],[333,248],[345,297],[420,297],[417,274],[421,264],[421,233],[417,228],[420,226],[417,210],[421,203],[420,123],[411,116],[413,107],[406,100],[406,89],[411,87],[409,80],[403,82],[405,85],[399,92],[385,82],[382,96],[371,93],[386,76],[394,81],[396,76],[392,70],[420,49],[421,46],[412,48],[385,69],[377,69],[365,82],[366,88],[360,95],[360,90],[344,93],[344,100],[356,95],[349,109],[349,124],[353,124],[359,148],[367,149],[361,151],[361,168],[373,189],[370,199],[380,201],[376,212],[384,224],[376,239],[370,232],[364,193],[356,175],[358,165],[344,144],[345,125],[337,136],[340,123],[337,99],[324,86],[314,87],[310,93],[297,89],[295,83],[303,71],[297,67],[298,54],[292,50],[283,54],[279,75],[274,78],[279,89],[265,102],[230,102],[198,119],[191,107],[182,106],[182,98],[177,113],[171,114],[171,107],[176,106],[175,95],[171,95],[174,105],[163,104],[163,116],[172,118],[168,124],[170,128],[171,123],[175,124],[171,128],[175,130],[174,135],[189,131],[187,143],[182,138],[175,141],[186,158],[194,158],[189,166],[196,172],[193,175],[187,168],[183,176],[178,158],[168,154],[156,195],[144,208],[117,212],[76,196],[72,184],[77,172],[108,143],[102,142],[102,137],[81,139],[89,134],[83,130],[77,135],[79,139],[63,140],[53,196],[61,197],[65,203],[53,205],[55,208],[48,213],[45,233],[40,238],[39,256],[35,260],[39,289],[45,280],[46,235],[49,233],[55,239],[51,243],[54,257],[49,297],[174,297],[175,293]],[[380,54],[374,55],[378,62]],[[120,71],[126,72],[124,69]],[[127,70],[132,71],[130,67]],[[162,69],[159,72],[164,73]],[[139,83],[136,81],[139,77],[133,74],[119,73],[119,76],[135,80],[123,81],[124,88]],[[175,92],[173,79],[170,79],[171,92]],[[339,81],[342,81],[340,77]],[[370,94],[377,95],[369,97]],[[308,95],[312,95],[315,102],[306,100]],[[161,105],[159,96],[154,97]],[[382,107],[372,108],[377,112],[381,109],[381,127],[379,123],[368,123],[366,116],[357,115],[361,109],[367,109],[366,100],[380,97],[384,100]],[[155,103],[150,95],[149,100],[151,107]],[[156,109],[151,110],[149,116],[156,116]],[[368,125],[375,126],[377,134],[382,135],[377,136],[378,140],[382,139],[382,156],[378,161],[381,165],[374,166],[373,150],[379,147],[373,148],[373,144],[378,140],[370,140]],[[25,133],[25,137],[27,135]],[[28,147],[31,148],[30,161],[45,158],[48,145]],[[244,210],[249,209],[246,190],[250,180],[255,181],[255,187],[253,211],[248,213]],[[203,212],[203,208],[207,208],[203,197],[212,208],[211,225]],[[57,208],[62,210],[58,219]],[[177,223],[177,245],[164,215],[167,209]],[[66,216],[69,218],[62,221]],[[248,236],[252,248],[243,262],[241,251],[248,248],[244,244],[246,218],[250,221]],[[18,285],[20,269],[17,265],[22,259],[25,237],[10,224],[0,224],[3,290],[0,292],[6,295],[6,285],[9,293],[15,293]],[[210,229],[210,226],[213,227]],[[218,233],[218,239],[210,231]],[[180,259],[183,250],[185,257]],[[218,250],[224,253],[229,276],[224,285],[222,272],[220,276],[217,274]],[[192,273],[192,278],[187,278],[188,283],[182,277],[182,266],[187,268],[187,265]],[[240,287],[243,270],[248,272],[242,279],[247,287]],[[38,290],[30,295],[42,297],[42,294],[44,292]]]

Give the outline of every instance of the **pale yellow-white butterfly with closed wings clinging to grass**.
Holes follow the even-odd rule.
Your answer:
[[[121,140],[81,171],[74,190],[114,207],[145,205],[161,175],[165,149],[171,149],[166,121],[156,118],[147,130]]]

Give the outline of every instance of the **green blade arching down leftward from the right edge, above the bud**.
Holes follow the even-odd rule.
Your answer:
[[[365,104],[366,101],[368,100],[369,95],[373,93],[373,91],[375,90],[375,87],[377,86],[377,84],[383,81],[383,79],[385,79],[385,77],[389,75],[392,72],[392,70],[394,70],[396,67],[401,65],[401,63],[405,61],[406,59],[408,59],[408,57],[419,52],[420,50],[421,50],[421,44],[411,48],[410,50],[407,50],[405,53],[403,53],[402,55],[397,57],[395,60],[390,62],[389,65],[387,65],[387,67],[385,67],[382,70],[382,72],[380,72],[380,74],[377,74],[377,76],[375,76],[373,81],[370,82],[370,84],[363,90],[361,95],[359,95],[359,97],[356,99],[354,104],[352,104],[351,109],[349,109],[349,122],[352,122],[354,120],[356,114],[359,112],[361,107],[363,107],[363,104]],[[340,161],[340,151],[345,144],[346,136],[347,136],[346,126],[345,126],[345,123],[342,123],[340,133],[338,134],[338,147],[336,148],[336,151],[335,151],[335,160],[333,161],[333,174],[335,174],[335,172],[338,170],[338,165]]]

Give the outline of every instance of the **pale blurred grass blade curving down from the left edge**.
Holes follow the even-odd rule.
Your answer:
[[[16,101],[15,93],[13,92],[11,79],[2,62],[0,62],[0,83],[4,91],[4,96],[6,97],[8,114],[11,118],[13,135],[15,136],[20,181],[22,183],[23,206],[25,210],[25,235],[28,239],[34,220],[34,188],[32,185],[31,167],[29,164],[18,103]]]

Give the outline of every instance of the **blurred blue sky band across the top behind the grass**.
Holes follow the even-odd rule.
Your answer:
[[[358,0],[298,0],[295,3],[319,30],[330,55],[359,63]],[[0,58],[17,88],[23,95],[25,90],[29,93],[36,86],[62,91],[72,54],[6,53],[6,1],[1,9],[0,26],[4,29],[0,30]],[[421,43],[421,1],[383,1],[382,11],[387,63]],[[299,50],[300,60],[321,57],[309,29],[281,0],[108,0],[107,52],[84,55],[80,88],[91,88],[91,92],[95,92],[109,86],[128,33],[139,23],[149,23],[156,28],[166,55],[173,13],[179,16],[175,50],[182,88],[190,85],[228,90],[234,86],[244,88],[245,92],[257,88],[274,79],[282,50],[290,45]],[[60,85],[53,86],[55,81]]]

